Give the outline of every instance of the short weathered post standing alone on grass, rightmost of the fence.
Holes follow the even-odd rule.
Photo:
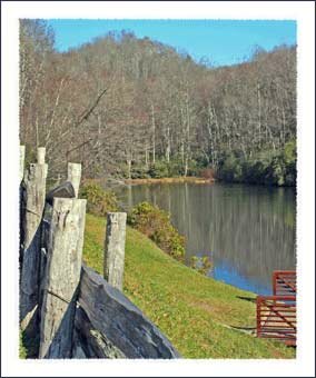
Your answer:
[[[108,212],[105,242],[105,279],[122,290],[126,238],[126,212]]]

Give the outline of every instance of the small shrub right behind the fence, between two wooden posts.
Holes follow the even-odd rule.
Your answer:
[[[83,183],[80,197],[87,199],[87,211],[96,216],[106,216],[109,211],[118,210],[115,192],[103,190],[98,183],[90,181]]]

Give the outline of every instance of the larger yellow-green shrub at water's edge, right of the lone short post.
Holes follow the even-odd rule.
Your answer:
[[[171,225],[168,212],[148,202],[141,202],[129,212],[128,223],[149,237],[175,259],[184,260],[185,238]]]

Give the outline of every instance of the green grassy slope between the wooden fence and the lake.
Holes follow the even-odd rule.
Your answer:
[[[102,271],[105,219],[87,215],[83,260]],[[128,228],[125,294],[187,358],[293,358],[285,346],[231,329],[255,327],[254,294],[206,278]]]

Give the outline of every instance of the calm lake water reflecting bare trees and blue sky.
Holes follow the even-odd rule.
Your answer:
[[[186,236],[186,259],[207,255],[209,276],[271,294],[273,270],[295,269],[295,191],[239,185],[141,185],[118,192],[125,207],[149,201]]]

